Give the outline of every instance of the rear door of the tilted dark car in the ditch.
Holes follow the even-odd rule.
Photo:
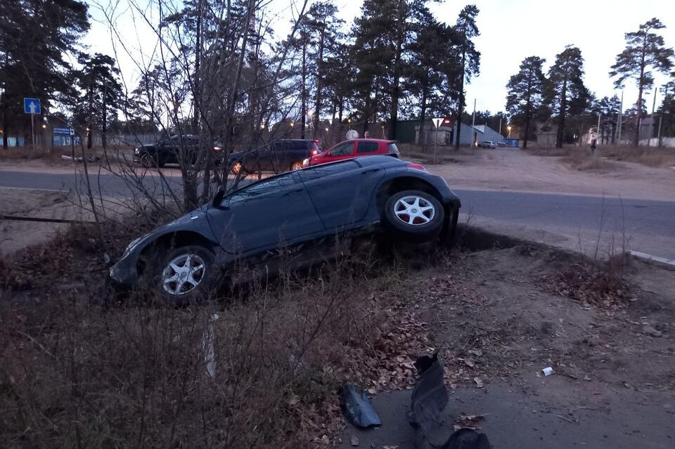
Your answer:
[[[354,160],[321,164],[298,171],[311,202],[327,229],[349,227],[368,212],[373,190],[384,176],[378,166],[361,167]]]

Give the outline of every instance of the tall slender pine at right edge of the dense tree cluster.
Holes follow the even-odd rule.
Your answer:
[[[476,16],[479,9],[475,5],[467,5],[459,13],[455,29],[461,35],[461,44],[459,48],[459,60],[461,61],[461,76],[458,85],[458,105],[457,105],[457,136],[455,138],[455,148],[459,149],[459,142],[462,129],[462,115],[465,107],[464,83],[469,83],[474,74],[480,70],[480,51],[476,50],[473,38],[480,36],[476,25]]]

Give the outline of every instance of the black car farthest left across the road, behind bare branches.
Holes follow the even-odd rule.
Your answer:
[[[134,162],[143,167],[164,167],[165,164],[180,164],[181,155],[191,164],[197,162],[199,138],[189,134],[170,136],[158,143],[141,145],[134,148]],[[214,164],[222,161],[223,147],[219,141],[213,142]]]

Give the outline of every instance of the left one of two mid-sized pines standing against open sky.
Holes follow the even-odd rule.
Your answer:
[[[530,121],[536,115],[541,115],[543,108],[543,94],[546,83],[542,70],[544,59],[539,56],[529,56],[520,63],[520,72],[510,78],[506,89],[506,109],[511,120],[519,126],[525,126],[525,136],[522,148],[527,148],[527,139],[530,136]]]

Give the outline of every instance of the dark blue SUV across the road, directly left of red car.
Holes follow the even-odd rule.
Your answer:
[[[233,174],[274,171],[281,173],[302,168],[302,161],[321,153],[319,141],[310,139],[280,139],[248,152],[233,152],[228,165]]]

